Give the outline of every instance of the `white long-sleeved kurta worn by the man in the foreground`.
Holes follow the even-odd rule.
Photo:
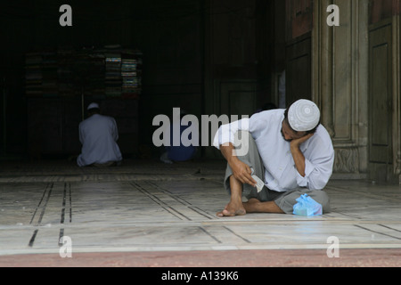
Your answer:
[[[305,177],[299,175],[290,150],[290,142],[282,137],[284,111],[266,110],[251,118],[220,126],[213,145],[220,149],[226,142],[234,141],[239,130],[249,131],[258,146],[265,171],[265,183],[270,190],[289,191],[299,187],[322,190],[329,182],[334,163],[331,137],[324,126],[317,127],[316,133],[300,145],[305,156]]]

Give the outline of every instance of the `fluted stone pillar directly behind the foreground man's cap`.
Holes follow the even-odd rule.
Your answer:
[[[368,130],[368,1],[314,2],[313,99],[336,152],[337,178],[365,178]],[[327,25],[327,7],[340,8],[340,26]]]

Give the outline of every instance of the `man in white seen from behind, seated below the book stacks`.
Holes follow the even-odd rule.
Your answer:
[[[122,160],[117,140],[119,132],[116,120],[100,114],[99,105],[87,107],[89,118],[79,124],[79,141],[82,153],[78,156],[79,167],[108,167],[119,165]]]

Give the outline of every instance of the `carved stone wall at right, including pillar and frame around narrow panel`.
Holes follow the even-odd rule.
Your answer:
[[[329,4],[340,8],[340,26],[326,24]],[[322,110],[322,122],[331,134],[335,149],[333,177],[376,179],[369,112],[372,66],[369,43],[372,25],[387,20],[391,25],[389,73],[392,148],[382,179],[401,183],[401,30],[398,1],[322,0],[314,2],[313,100]],[[371,24],[371,26],[370,26]],[[373,27],[374,28],[374,27]],[[380,118],[373,118],[380,119]],[[384,126],[383,126],[384,127]],[[372,167],[373,165],[373,167]]]

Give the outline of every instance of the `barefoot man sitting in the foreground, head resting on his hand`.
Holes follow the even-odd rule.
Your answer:
[[[241,147],[246,143],[248,151],[237,157],[235,136],[240,135]],[[287,110],[266,110],[221,126],[213,144],[228,162],[225,189],[231,193],[217,216],[292,214],[296,199],[305,193],[322,205],[323,213],[330,211],[323,188],[332,174],[334,150],[314,102],[299,100]],[[265,184],[261,191],[252,175]],[[242,191],[248,198],[244,203]]]

